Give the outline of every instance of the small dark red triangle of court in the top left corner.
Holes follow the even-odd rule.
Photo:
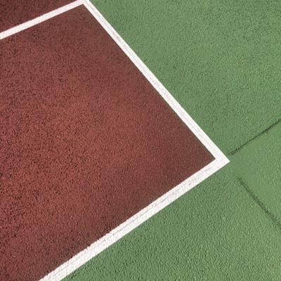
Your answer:
[[[0,32],[70,4],[73,0],[1,0]]]

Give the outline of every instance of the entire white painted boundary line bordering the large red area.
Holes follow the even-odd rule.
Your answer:
[[[218,169],[228,164],[228,158],[223,155],[223,152],[218,149],[218,147],[211,141],[211,139],[202,131],[200,126],[198,126],[195,121],[188,115],[187,112],[181,107],[181,105],[171,96],[171,93],[167,91],[161,82],[155,77],[154,74],[146,67],[146,65],[141,61],[140,58],[133,52],[133,50],[129,47],[128,44],[119,36],[119,34],[113,29],[113,27],[103,18],[98,10],[91,4],[89,0],[78,0],[74,1],[72,4],[68,4],[61,8],[58,8],[50,13],[46,13],[45,15],[41,15],[34,20],[30,20],[28,22],[23,23],[22,25],[18,25],[17,27],[13,27],[10,30],[6,30],[0,33],[0,39],[4,39],[12,34],[25,30],[33,25],[37,25],[39,22],[43,22],[44,20],[48,20],[49,18],[53,18],[55,15],[59,15],[60,13],[64,13],[65,11],[69,11],[72,8],[80,6],[83,4],[88,11],[93,15],[100,25],[107,31],[108,34],[115,40],[115,42],[122,48],[122,51],[128,55],[131,61],[138,67],[143,75],[150,81],[150,84],[155,87],[158,93],[166,100],[171,108],[176,112],[178,117],[180,117],[183,122],[188,126],[188,128],[197,136],[197,138],[202,142],[202,144],[214,155],[215,159],[213,162],[209,163],[207,166],[204,166],[203,169],[197,171],[197,173],[193,174],[185,181],[177,185],[176,187],[166,192],[164,195],[159,197],[157,200],[152,202],[148,207],[145,207],[137,214],[129,218],[127,221],[119,225],[117,228],[107,233],[107,235],[100,238],[98,241],[91,244],[89,247],[80,251],[78,254],[72,257],[69,261],[66,261],[61,266],[53,270],[51,273],[48,273],[45,277],[43,277],[40,281],[58,281],[70,275],[74,270],[84,265],[87,261],[92,259],[94,256],[98,255],[101,251],[117,242],[120,238],[124,237],[127,233],[131,232],[137,226],[140,226],[141,223],[147,221],[148,218],[155,215],[158,211],[164,209],[167,205],[174,202],[178,197],[188,192],[191,188],[194,188],[195,185],[204,181],[204,179],[208,178],[212,174],[214,174]]]

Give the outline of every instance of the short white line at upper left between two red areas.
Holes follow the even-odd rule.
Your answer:
[[[70,4],[67,4],[67,5],[63,6],[63,7],[57,8],[56,10],[53,10],[49,13],[45,13],[44,15],[40,15],[38,18],[34,18],[33,20],[29,20],[27,22],[22,23],[21,25],[17,25],[15,27],[12,27],[9,30],[5,30],[4,32],[0,33],[0,40],[4,39],[6,37],[9,37],[13,34],[16,34],[18,32],[21,32],[22,30],[26,30],[27,28],[32,27],[34,25],[38,25],[40,22],[44,22],[45,20],[53,18],[56,15],[60,15],[61,13],[65,13],[66,11],[70,11],[72,8],[76,8],[77,6],[80,6],[82,4],[83,4],[82,0],[74,1]]]

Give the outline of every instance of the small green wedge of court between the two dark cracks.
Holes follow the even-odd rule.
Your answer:
[[[261,200],[261,207],[270,211],[281,227],[280,141],[281,124],[277,124],[237,152],[233,162],[237,176],[242,178],[243,184],[257,200]]]

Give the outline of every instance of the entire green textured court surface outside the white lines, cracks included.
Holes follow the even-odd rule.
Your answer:
[[[230,164],[65,281],[281,280],[281,2],[93,4]]]

